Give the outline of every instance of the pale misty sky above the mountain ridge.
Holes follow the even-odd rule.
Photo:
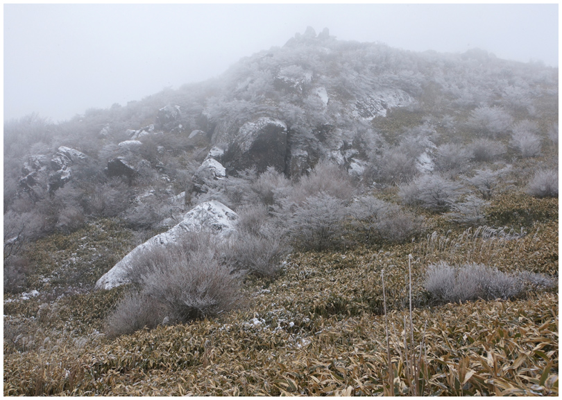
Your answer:
[[[204,81],[312,26],[339,40],[558,66],[558,4],[4,4],[4,120]]]

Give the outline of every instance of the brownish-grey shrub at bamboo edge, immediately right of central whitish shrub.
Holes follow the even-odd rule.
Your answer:
[[[361,196],[348,207],[350,227],[361,241],[404,242],[421,230],[419,218],[395,204],[373,196]]]

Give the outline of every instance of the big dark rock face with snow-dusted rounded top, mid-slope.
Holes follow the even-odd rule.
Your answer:
[[[287,163],[287,126],[278,119],[262,117],[239,128],[221,162],[228,174],[255,167],[257,173],[267,167],[284,172]]]

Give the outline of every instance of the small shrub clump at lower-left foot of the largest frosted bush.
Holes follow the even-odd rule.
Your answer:
[[[165,317],[167,310],[157,299],[141,292],[130,292],[105,320],[105,335],[117,338],[142,328],[152,329],[162,324]]]

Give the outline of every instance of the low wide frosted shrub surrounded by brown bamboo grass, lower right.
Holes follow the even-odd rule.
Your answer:
[[[423,286],[445,303],[511,299],[525,291],[525,285],[514,274],[476,263],[453,267],[443,261],[427,267]]]

